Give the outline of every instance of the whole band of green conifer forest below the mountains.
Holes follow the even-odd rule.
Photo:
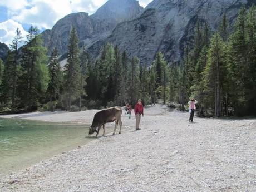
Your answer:
[[[50,60],[38,29],[31,26],[25,45],[17,29],[6,62],[0,61],[2,112],[155,104],[186,109],[191,97],[199,116],[252,115],[256,107],[256,8],[240,10],[234,26],[223,16],[219,29],[198,21],[193,45],[180,62],[168,63],[159,52],[151,65],[140,64],[117,45],[106,43],[93,60],[80,50],[72,28],[67,62],[60,66],[55,48]],[[149,67],[148,67],[149,66]],[[178,105],[177,105],[178,104]]]

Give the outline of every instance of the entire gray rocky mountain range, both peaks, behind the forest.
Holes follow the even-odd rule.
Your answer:
[[[184,45],[193,41],[197,21],[208,21],[211,31],[216,31],[224,13],[233,24],[239,9],[252,4],[256,0],[154,0],[143,9],[136,0],[109,0],[91,16],[69,14],[44,31],[42,37],[49,54],[54,47],[65,54],[73,26],[80,46],[87,45],[93,58],[99,55],[102,45],[111,42],[146,65],[159,51],[171,63],[179,61]]]

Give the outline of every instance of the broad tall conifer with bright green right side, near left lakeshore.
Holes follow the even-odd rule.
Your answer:
[[[18,92],[22,97],[21,106],[34,110],[45,97],[48,86],[47,56],[36,27],[29,28],[26,43],[22,48],[22,76]]]

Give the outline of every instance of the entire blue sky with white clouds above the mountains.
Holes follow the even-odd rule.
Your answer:
[[[70,13],[93,14],[107,0],[0,0],[0,42],[11,43],[17,28],[26,37],[33,24],[41,31],[51,29]],[[152,0],[139,0],[146,7]]]

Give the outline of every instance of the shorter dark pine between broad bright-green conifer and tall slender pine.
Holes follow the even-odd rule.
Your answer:
[[[48,65],[50,83],[47,89],[48,100],[56,101],[60,99],[61,86],[62,86],[62,71],[60,62],[58,61],[58,51],[57,48],[53,49],[50,63]]]

